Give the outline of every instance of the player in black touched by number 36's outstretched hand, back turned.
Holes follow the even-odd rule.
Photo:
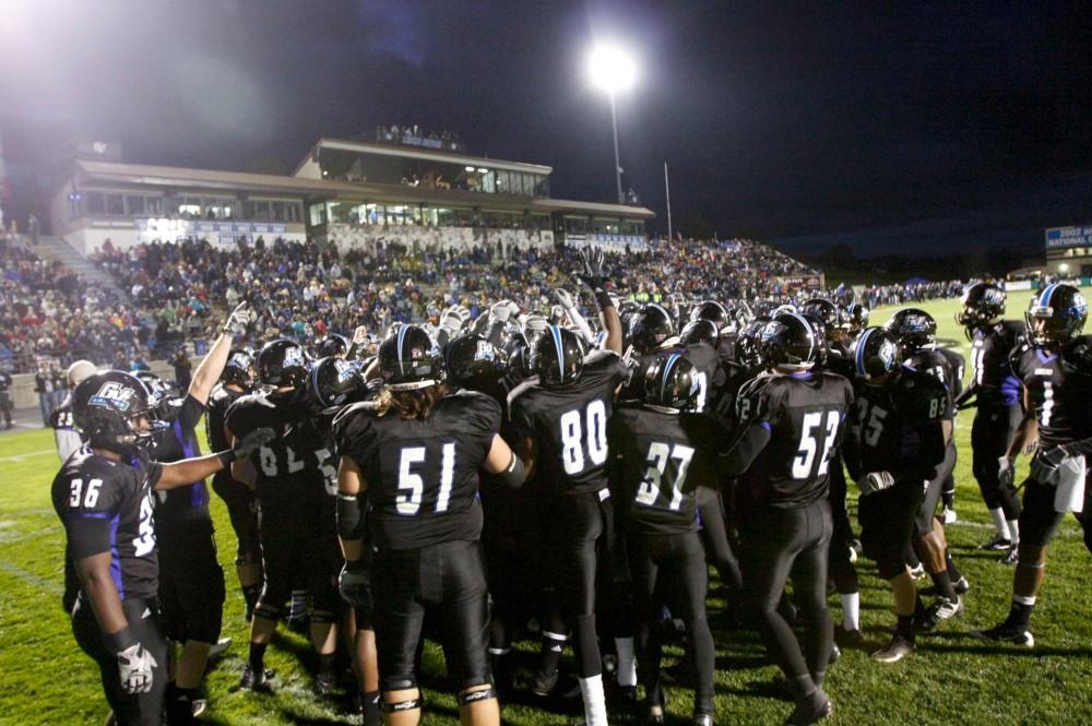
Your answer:
[[[306,580],[312,597],[310,636],[319,662],[316,690],[329,693],[336,686],[334,623],[341,598],[325,540],[316,536],[322,532],[323,499],[336,469],[313,420],[307,373],[299,344],[266,343],[258,354],[258,377],[273,391],[242,396],[227,410],[227,432],[235,439],[261,426],[277,433],[248,461],[237,461],[232,467],[237,480],[256,487],[261,505],[259,540],[265,582],[254,607],[250,655],[240,681],[242,688],[258,691],[269,689],[265,650],[297,575]]]

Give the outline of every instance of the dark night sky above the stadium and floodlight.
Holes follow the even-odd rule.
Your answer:
[[[1092,223],[1082,3],[4,0],[0,132],[29,188],[73,134],[127,160],[290,170],[320,136],[458,131],[614,197],[596,38],[640,58],[624,185],[788,249],[1042,251]],[[1046,5],[1052,5],[1046,8]],[[23,192],[22,198],[25,198]]]

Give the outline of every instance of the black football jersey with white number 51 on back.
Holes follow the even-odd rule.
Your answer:
[[[482,534],[478,471],[500,430],[500,405],[482,393],[443,396],[426,420],[356,404],[334,419],[337,453],[367,483],[372,543],[414,549]]]

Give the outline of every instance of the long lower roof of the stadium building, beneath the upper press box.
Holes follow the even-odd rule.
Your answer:
[[[121,164],[79,159],[75,175],[80,181],[98,180],[134,186],[174,187],[238,193],[240,191],[288,194],[320,200],[358,200],[371,202],[410,202],[429,206],[468,206],[492,211],[585,212],[607,216],[652,219],[655,213],[643,206],[602,204],[520,194],[422,189],[405,185],[357,183],[327,179],[305,179],[277,174],[190,169],[176,166]]]

